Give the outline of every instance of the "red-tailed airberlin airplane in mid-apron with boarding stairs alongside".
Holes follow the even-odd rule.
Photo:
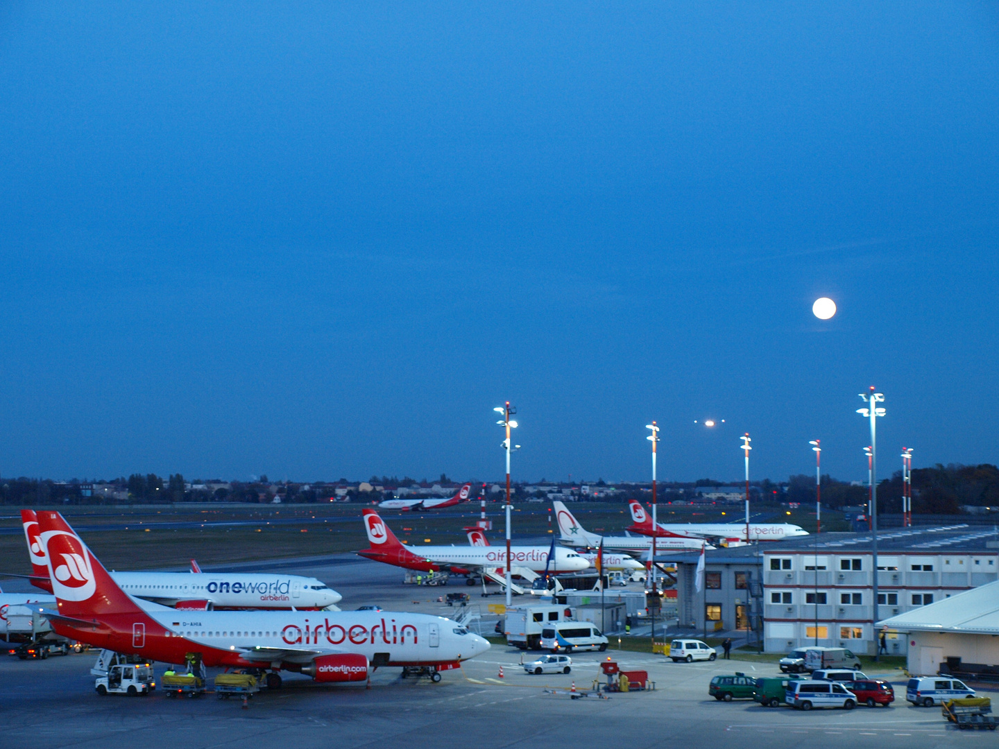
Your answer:
[[[495,582],[505,584],[505,546],[417,546],[410,550],[396,537],[385,520],[374,509],[365,509],[364,523],[368,532],[369,547],[356,553],[385,564],[424,572],[448,570],[455,574],[481,574]],[[528,580],[543,572],[548,560],[546,546],[511,546],[510,571]],[[589,562],[569,549],[556,548],[551,568],[559,572],[576,572],[589,567]],[[469,585],[475,582],[469,578]],[[516,592],[519,588],[510,585]]]

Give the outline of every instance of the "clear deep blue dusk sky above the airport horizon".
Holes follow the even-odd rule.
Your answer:
[[[7,4],[0,473],[495,478],[509,399],[520,478],[860,478],[869,384],[995,462],[997,27]]]

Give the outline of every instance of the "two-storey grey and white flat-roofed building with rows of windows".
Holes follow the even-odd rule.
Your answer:
[[[700,591],[699,555],[673,555],[678,626],[751,630],[750,641],[761,636],[767,652],[824,645],[873,654],[879,629],[872,540],[869,532],[821,533],[710,550]],[[999,579],[999,531],[964,525],[879,531],[877,566],[880,620]],[[886,646],[889,654],[905,655],[908,640],[891,631]]]

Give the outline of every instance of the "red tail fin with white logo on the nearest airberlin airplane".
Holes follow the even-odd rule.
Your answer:
[[[38,513],[52,592],[64,616],[142,613],[58,512]]]

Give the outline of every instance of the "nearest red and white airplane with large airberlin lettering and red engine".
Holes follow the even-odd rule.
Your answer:
[[[115,582],[61,514],[38,513],[56,610],[42,607],[57,634],[117,653],[206,666],[280,671],[319,682],[363,682],[379,666],[450,670],[490,643],[443,616],[388,611],[144,611]],[[439,680],[439,676],[435,680]]]

